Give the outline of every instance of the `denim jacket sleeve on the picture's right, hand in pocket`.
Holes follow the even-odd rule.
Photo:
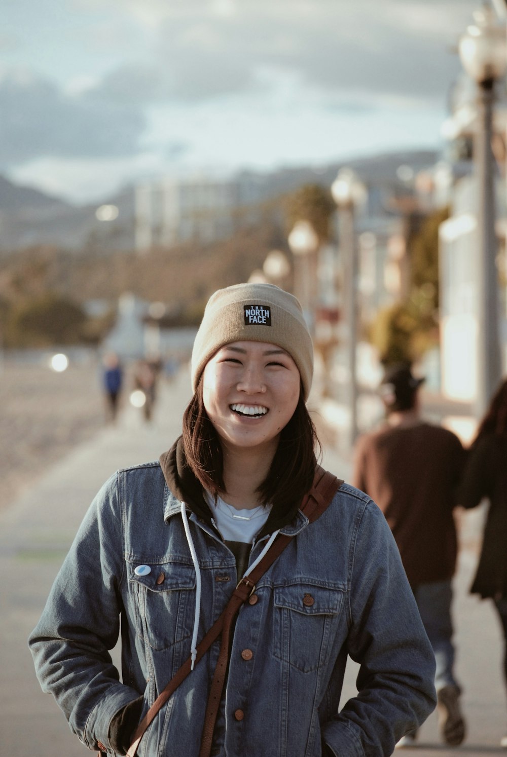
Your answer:
[[[358,694],[323,727],[336,755],[390,755],[433,711],[435,659],[380,509],[369,500],[351,548],[347,652]]]

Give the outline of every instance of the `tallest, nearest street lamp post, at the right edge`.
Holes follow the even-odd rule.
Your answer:
[[[474,13],[475,24],[459,40],[465,71],[478,86],[478,120],[474,136],[477,179],[477,417],[484,415],[502,377],[496,270],[495,188],[491,140],[496,79],[505,75],[505,28],[489,7]]]

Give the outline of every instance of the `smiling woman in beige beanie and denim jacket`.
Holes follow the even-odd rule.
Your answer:
[[[104,485],[30,638],[43,689],[89,748],[123,755],[133,740],[133,755],[151,722],[146,757],[383,757],[435,706],[387,523],[318,467],[312,374],[296,298],[214,293],[183,435]],[[217,623],[221,643],[203,646]],[[108,653],[120,628],[123,683]],[[358,695],[340,712],[348,654]]]

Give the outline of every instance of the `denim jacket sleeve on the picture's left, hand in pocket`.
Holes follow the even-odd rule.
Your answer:
[[[29,639],[42,690],[55,696],[71,730],[89,749],[99,749],[99,741],[113,749],[111,720],[141,693],[120,683],[109,654],[120,629],[123,572],[114,475],[86,513]]]

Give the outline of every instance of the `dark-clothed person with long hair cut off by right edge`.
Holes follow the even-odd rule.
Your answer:
[[[489,500],[484,538],[471,593],[493,600],[504,636],[507,685],[507,380],[491,400],[471,444],[458,500],[476,507]],[[507,748],[507,733],[500,742]]]

